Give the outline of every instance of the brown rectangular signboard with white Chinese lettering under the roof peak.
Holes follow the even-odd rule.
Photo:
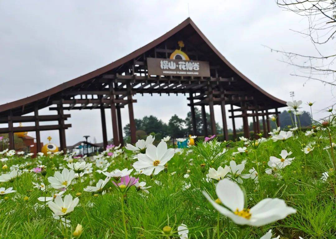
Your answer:
[[[210,77],[207,61],[147,58],[149,75]]]

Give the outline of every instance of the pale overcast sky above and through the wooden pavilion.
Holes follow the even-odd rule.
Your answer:
[[[262,46],[314,53],[308,39],[290,30],[305,29],[306,20],[274,1],[0,1],[0,104],[84,75],[153,41],[188,17],[188,2],[192,20],[245,76],[282,100],[291,100],[289,92],[294,91],[297,100],[315,101],[314,118],[326,116],[319,110],[335,101],[330,86],[290,76],[295,68]],[[183,95],[134,98],[136,118],[152,114],[168,122],[175,113],[185,118],[189,110]],[[67,145],[83,135],[101,142],[99,110],[70,113]],[[110,111],[106,116],[110,139]],[[221,124],[218,106],[215,119]],[[122,121],[129,122],[127,107],[122,109]],[[241,120],[236,124],[240,127]],[[44,142],[48,135],[59,144],[57,131],[42,132]]]

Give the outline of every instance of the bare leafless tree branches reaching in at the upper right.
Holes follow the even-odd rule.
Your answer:
[[[303,37],[308,37],[316,55],[305,55],[294,52],[274,50],[282,53],[287,58],[287,63],[299,69],[299,74],[293,76],[317,80],[324,84],[336,86],[333,62],[336,53],[332,41],[336,34],[336,1],[335,0],[277,0],[279,7],[304,16],[308,28],[298,32]],[[297,31],[295,31],[297,32]]]

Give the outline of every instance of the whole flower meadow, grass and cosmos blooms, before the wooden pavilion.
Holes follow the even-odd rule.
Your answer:
[[[165,143],[162,142],[158,148],[160,152],[162,150],[166,152],[163,158],[169,158],[168,154],[173,154],[173,156],[168,159],[167,163],[165,163],[166,159],[162,158],[158,166],[155,166],[155,159],[153,159],[155,155],[149,152],[149,148],[153,150],[153,147],[148,145],[146,146],[147,154],[149,154],[147,156],[137,155],[139,152],[116,147],[109,148],[95,158],[75,158],[69,155],[31,158],[18,154],[11,155],[10,151],[1,152],[3,172],[0,176],[0,181],[2,181],[0,187],[4,189],[0,189],[2,191],[0,194],[3,194],[0,203],[0,237],[11,239],[74,238],[78,236],[90,239],[259,239],[269,229],[272,229],[272,238],[276,236],[288,239],[296,239],[299,236],[302,238],[336,238],[335,156],[334,150],[330,148],[331,142],[335,141],[336,128],[330,124],[329,126],[325,124],[325,126],[313,127],[315,129],[310,131],[312,132],[310,135],[297,130],[290,131],[292,136],[287,135],[287,139],[276,142],[272,138],[274,139],[277,135],[251,142],[243,140],[217,142],[214,138],[206,143],[199,141],[192,148],[166,151],[164,151]],[[329,138],[329,132],[331,138]],[[239,147],[246,147],[246,149],[240,149],[241,152],[235,153],[238,152]],[[284,158],[282,157],[284,155],[279,155],[282,150],[287,150],[292,154]],[[144,153],[146,150],[141,151]],[[160,154],[160,152],[157,149],[157,153]],[[111,156],[108,156],[108,153]],[[135,155],[138,159],[134,158]],[[160,156],[162,155],[156,155],[159,161]],[[277,157],[278,161],[271,156]],[[148,162],[147,157],[154,162]],[[243,168],[241,172],[239,170],[239,172],[233,172],[235,165],[232,160],[236,164],[243,162],[242,165],[237,166]],[[144,165],[149,163],[149,166],[150,164],[154,166],[154,173],[157,173],[159,169],[162,171],[152,174],[148,172],[150,170],[142,170],[138,173],[133,169],[133,163],[136,161],[141,162],[135,163],[134,168],[145,168]],[[67,164],[71,162],[85,163],[81,164],[82,166],[70,164],[69,167]],[[92,163],[92,166],[87,163]],[[164,163],[163,167],[160,165],[162,163]],[[217,172],[219,166],[223,170]],[[74,174],[71,173],[70,168],[74,169]],[[107,179],[107,184],[101,190],[91,188],[96,191],[90,192],[88,186],[96,186],[99,179],[106,179],[106,175],[97,172],[104,168],[106,172],[113,172],[116,169],[133,169],[130,176],[139,178],[139,182],[146,182],[145,186],[151,187],[146,189],[147,193],[137,188],[136,185],[130,186],[132,182],[128,185],[126,183],[126,186],[115,186],[112,181],[120,183],[119,176],[127,175],[127,173],[120,173],[119,176],[110,174],[115,178]],[[64,169],[70,170],[70,172],[66,170],[69,172],[67,182],[65,184],[60,182],[57,186],[55,179],[50,177],[53,177],[55,172],[62,172]],[[81,170],[84,171],[80,172]],[[140,174],[141,172],[148,175]],[[329,177],[323,177],[326,175],[325,172]],[[255,173],[257,173],[257,178]],[[224,179],[218,183],[218,180],[211,179],[211,177],[219,177],[218,180]],[[127,177],[123,180],[127,180]],[[232,186],[230,182],[233,182]],[[16,192],[5,194],[5,189],[10,187]],[[67,189],[65,192],[55,189],[59,187]],[[220,195],[216,195],[216,187]],[[84,191],[85,188],[86,191]],[[228,203],[236,203],[236,201],[238,203],[241,200],[238,198],[240,194],[235,192],[241,189],[246,210],[242,211],[241,216],[237,216],[237,213],[227,208],[230,208]],[[233,216],[226,217],[222,211],[219,213],[214,209],[204,196],[205,191],[214,200],[219,197],[218,205],[226,206],[225,210],[234,214],[236,220],[232,220]],[[53,197],[54,193],[60,192],[63,195]],[[59,209],[61,198],[67,198],[65,201],[70,203],[68,194],[72,195],[75,200],[72,205],[74,206],[73,211],[69,205]],[[43,198],[47,199],[46,197],[52,198],[51,203],[50,201],[43,202]],[[76,204],[78,199],[75,198],[79,199],[78,204]],[[278,215],[278,218],[275,217],[274,220],[265,219],[265,225],[243,225],[245,221],[241,225],[236,224],[241,218],[246,222],[252,222],[255,216],[254,211],[251,209],[250,213],[247,208],[252,208],[265,198],[283,199],[287,208],[296,210],[296,212],[286,213],[288,216]],[[275,203],[274,207],[278,205],[279,202]],[[268,208],[267,205],[259,210],[264,210],[262,216],[264,218],[272,213],[280,213],[272,211],[272,208]],[[58,213],[60,216],[55,216],[55,219],[52,213]],[[64,223],[61,224],[60,220],[66,220],[67,226],[64,226]],[[75,231],[77,224],[82,225],[82,234],[80,228]],[[186,231],[181,232],[181,230],[178,233],[178,227],[181,224],[186,225],[188,233],[182,234]],[[270,238],[266,236],[264,238]]]

